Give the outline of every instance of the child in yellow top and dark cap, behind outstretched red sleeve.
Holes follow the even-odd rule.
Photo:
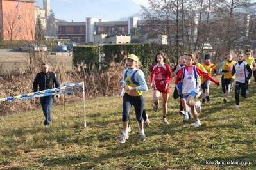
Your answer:
[[[206,54],[205,55],[205,62],[202,64],[203,67],[205,68],[205,70],[207,71],[207,73],[209,73],[210,75],[216,75],[216,66],[210,61],[210,54]],[[213,72],[212,72],[213,71]],[[209,98],[209,85],[210,85],[210,80],[209,79],[202,79],[202,84],[201,84],[201,88],[203,89],[203,99],[202,99],[202,103],[205,103],[205,99],[209,102],[210,98]]]

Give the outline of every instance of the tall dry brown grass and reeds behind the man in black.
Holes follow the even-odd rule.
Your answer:
[[[0,63],[4,61],[3,56]],[[99,96],[113,96],[119,93],[119,81],[123,76],[124,63],[110,63],[107,70],[96,72],[77,72],[71,69],[71,56],[51,56],[48,54],[31,55],[24,53],[21,56],[8,56],[13,63],[19,58],[23,66],[17,67],[13,64],[12,70],[6,69],[4,75],[0,77],[0,97],[12,97],[31,93],[33,91],[33,79],[38,72],[41,72],[41,63],[49,63],[50,71],[55,72],[58,81],[62,82],[85,82],[86,98]],[[69,63],[69,66],[65,65]],[[6,65],[2,65],[6,66]],[[8,66],[8,65],[7,65]],[[2,69],[4,70],[4,69]],[[80,87],[81,90],[81,87]],[[65,105],[80,100],[81,93],[72,93],[60,98],[57,105]],[[17,111],[30,111],[40,105],[35,98],[28,100],[11,100],[10,102],[0,103],[0,116],[14,114]]]

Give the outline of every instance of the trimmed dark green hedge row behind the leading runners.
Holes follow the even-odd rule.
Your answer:
[[[101,61],[99,55],[104,56],[105,66],[114,61],[121,63],[128,54],[135,54],[139,57],[142,70],[150,70],[151,65],[155,62],[155,55],[158,51],[165,52],[169,57],[168,64],[176,65],[177,56],[174,56],[173,50],[169,45],[158,44],[122,44],[122,45],[93,45],[93,46],[76,46],[73,49],[73,64],[75,67],[90,70],[98,70]],[[146,70],[145,70],[146,69]]]

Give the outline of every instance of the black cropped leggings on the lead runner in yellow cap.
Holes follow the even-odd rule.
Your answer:
[[[143,95],[138,97],[132,97],[128,95],[127,93],[123,96],[123,114],[122,114],[122,121],[128,121],[129,120],[129,112],[132,108],[132,105],[135,109],[136,119],[139,123],[141,123],[144,118],[142,117],[143,109],[144,109],[144,98]],[[145,112],[146,116],[146,112]]]

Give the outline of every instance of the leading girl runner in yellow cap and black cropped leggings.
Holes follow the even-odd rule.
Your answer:
[[[127,58],[127,65],[128,70],[124,72],[124,90],[126,93],[123,96],[123,134],[119,139],[119,143],[125,143],[126,139],[129,138],[128,135],[128,117],[129,111],[134,106],[136,119],[139,123],[139,137],[141,141],[145,141],[146,135],[144,134],[143,128],[143,109],[144,109],[144,98],[142,95],[142,91],[147,91],[148,86],[146,84],[144,73],[142,70],[137,69],[136,66],[139,63],[139,58],[134,55],[130,54]]]

